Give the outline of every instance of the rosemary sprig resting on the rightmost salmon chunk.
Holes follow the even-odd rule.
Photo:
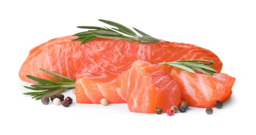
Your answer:
[[[196,73],[194,70],[197,70],[199,72],[202,72],[208,75],[213,75],[213,73],[217,72],[217,70],[214,70],[213,68],[208,66],[208,65],[214,64],[212,61],[208,61],[208,60],[183,60],[183,61],[174,61],[174,62],[161,62],[158,64],[170,65],[170,66],[173,66],[174,68],[178,68],[193,74]]]

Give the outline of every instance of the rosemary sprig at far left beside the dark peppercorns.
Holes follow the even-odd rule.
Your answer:
[[[23,93],[24,95],[30,95],[32,96],[32,98],[35,99],[42,99],[44,96],[49,98],[53,95],[58,95],[62,93],[66,89],[75,88],[75,80],[45,69],[40,70],[52,75],[51,77],[55,80],[46,80],[31,75],[26,75],[26,77],[38,82],[38,85],[31,85],[30,87],[24,86],[27,89],[36,91]]]

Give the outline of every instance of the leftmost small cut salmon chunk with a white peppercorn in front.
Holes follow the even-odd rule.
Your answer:
[[[109,103],[126,103],[120,97],[120,86],[117,82],[118,73],[81,73],[75,82],[77,103],[99,104],[102,98]]]

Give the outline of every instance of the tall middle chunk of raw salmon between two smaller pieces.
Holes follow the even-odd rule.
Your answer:
[[[129,111],[155,113],[156,107],[159,107],[166,112],[172,105],[179,106],[180,88],[170,72],[168,65],[138,60],[122,73],[118,81]]]

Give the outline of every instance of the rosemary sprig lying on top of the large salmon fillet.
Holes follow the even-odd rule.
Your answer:
[[[137,35],[131,29],[126,26],[108,20],[99,19],[99,21],[104,22],[106,24],[115,26],[116,28],[107,28],[107,27],[98,27],[98,26],[77,26],[77,28],[82,29],[90,29],[88,31],[76,33],[75,36],[77,38],[73,39],[73,41],[82,41],[80,44],[85,44],[97,38],[107,38],[107,39],[124,39],[127,41],[136,41],[139,43],[155,43],[161,41],[155,37],[152,37],[136,28],[133,28],[140,35]]]

